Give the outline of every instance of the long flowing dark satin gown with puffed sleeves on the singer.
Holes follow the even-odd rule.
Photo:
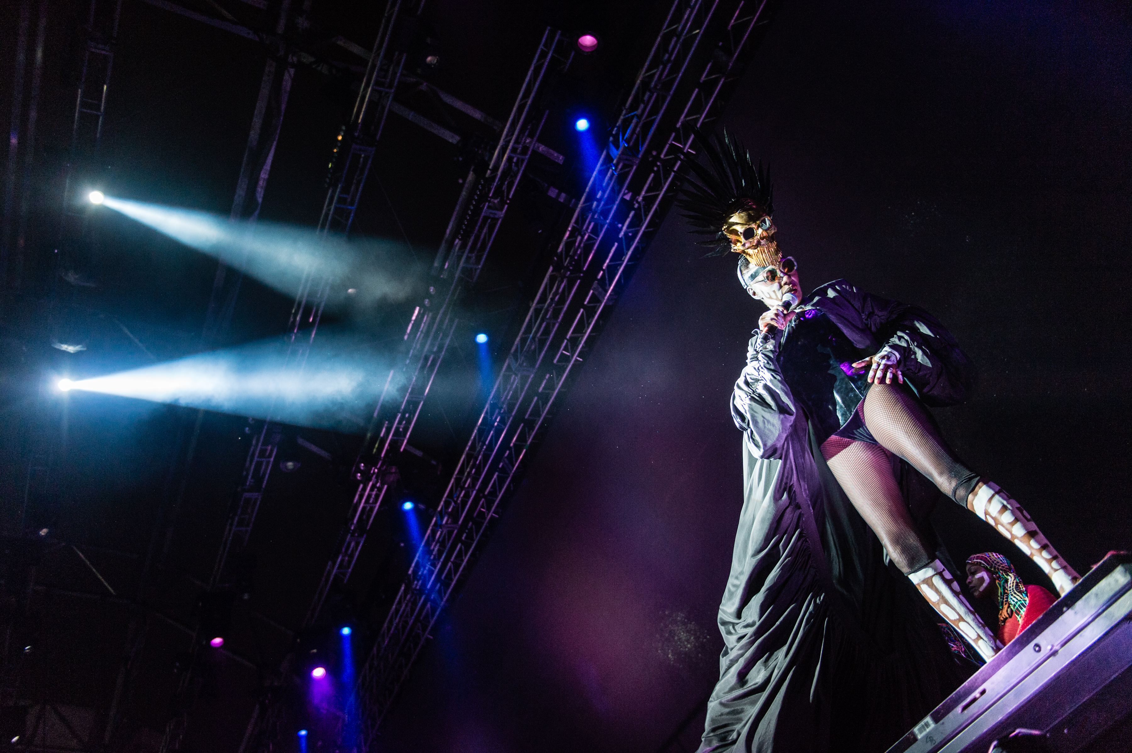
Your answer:
[[[814,309],[863,353],[895,349],[926,405],[959,403],[974,382],[955,339],[921,309],[844,280],[796,311]],[[821,432],[782,376],[780,339],[751,339],[731,400],[744,504],[700,751],[884,751],[977,667],[952,654],[935,613],[841,492]],[[926,521],[942,495],[903,461],[893,468],[929,551],[957,572]]]

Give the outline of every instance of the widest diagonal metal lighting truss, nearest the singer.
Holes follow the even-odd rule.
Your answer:
[[[359,673],[348,711],[360,716],[361,750],[372,743],[571,370],[676,198],[692,129],[718,118],[769,23],[767,5],[676,0],[671,6]]]

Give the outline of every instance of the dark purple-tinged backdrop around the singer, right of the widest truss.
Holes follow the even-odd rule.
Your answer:
[[[980,383],[936,416],[1078,569],[1132,540],[1130,42],[1099,3],[787,2],[723,119],[805,288],[955,332]],[[659,751],[711,690],[760,306],[696,257],[670,216],[378,750]],[[957,559],[1013,554],[959,513]]]

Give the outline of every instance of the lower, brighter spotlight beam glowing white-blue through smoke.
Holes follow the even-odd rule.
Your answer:
[[[273,338],[80,380],[74,389],[363,433],[392,356],[360,335],[325,330],[301,370],[295,355]]]

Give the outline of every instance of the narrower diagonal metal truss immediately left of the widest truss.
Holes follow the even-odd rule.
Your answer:
[[[362,452],[354,467],[358,488],[350,505],[346,526],[338,543],[337,553],[326,564],[318,590],[307,612],[305,624],[318,618],[327,594],[335,585],[344,585],[350,579],[358,554],[366,542],[366,535],[374,522],[389,485],[386,481],[389,450],[403,450],[409,435],[420,415],[432,379],[447,350],[456,328],[455,305],[463,291],[475,283],[496,232],[503,222],[511,198],[526,168],[532,149],[538,144],[547,113],[532,113],[532,103],[551,66],[565,69],[573,57],[571,40],[556,29],[548,28],[542,34],[534,60],[526,71],[526,78],[512,106],[511,115],[503,127],[499,141],[480,183],[481,193],[472,205],[469,219],[471,230],[453,244],[439,276],[429,288],[429,297],[417,306],[409,329],[405,331],[408,347],[403,360],[389,371],[385,388],[374,412],[374,426],[380,423],[380,431],[367,436]],[[477,214],[478,210],[478,214]],[[462,215],[463,206],[457,205],[456,215]],[[460,223],[463,217],[453,217]],[[432,305],[439,301],[439,305]],[[401,395],[401,403],[392,418],[381,421],[383,409]]]

